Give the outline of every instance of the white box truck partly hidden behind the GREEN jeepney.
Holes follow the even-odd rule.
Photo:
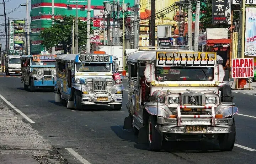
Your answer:
[[[118,72],[124,70],[123,67],[123,46],[120,45],[98,45],[96,51],[105,51],[106,54],[116,56],[119,65]]]

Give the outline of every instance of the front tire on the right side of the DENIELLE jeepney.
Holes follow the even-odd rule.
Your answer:
[[[233,119],[233,124],[231,125],[231,133],[223,134],[219,136],[219,147],[221,151],[232,151],[235,144],[235,120]]]

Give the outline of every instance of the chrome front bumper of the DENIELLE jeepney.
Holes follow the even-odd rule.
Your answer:
[[[178,126],[177,119],[169,119],[164,117],[158,117],[157,123],[159,124],[158,130],[160,132],[165,133],[186,133],[186,126],[191,125],[206,125],[207,130],[206,134],[213,134],[213,133],[230,133],[231,132],[231,125],[233,123],[233,119],[215,119],[214,124],[212,126],[212,119],[210,118],[183,118],[181,121],[181,125]],[[189,133],[193,134],[193,133]],[[198,134],[198,133],[194,133]]]

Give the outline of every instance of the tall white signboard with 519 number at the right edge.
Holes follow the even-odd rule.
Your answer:
[[[245,9],[245,55],[256,56],[256,8]]]

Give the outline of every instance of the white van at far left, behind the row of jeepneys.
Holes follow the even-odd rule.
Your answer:
[[[21,73],[21,60],[19,55],[8,55],[5,60],[5,75]]]

